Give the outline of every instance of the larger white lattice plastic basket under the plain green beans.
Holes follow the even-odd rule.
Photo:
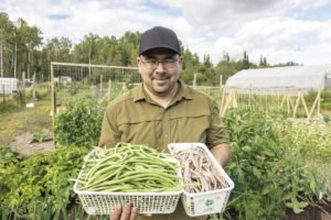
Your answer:
[[[89,162],[89,152],[84,158],[84,166]],[[178,163],[178,161],[173,161]],[[82,175],[82,170],[78,177]],[[179,168],[178,175],[181,177]],[[182,190],[167,193],[111,193],[111,191],[87,191],[79,189],[76,180],[74,191],[78,195],[84,210],[88,215],[109,215],[117,205],[128,204],[138,208],[139,213],[171,213],[175,210]]]

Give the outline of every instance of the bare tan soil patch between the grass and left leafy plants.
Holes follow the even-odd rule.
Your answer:
[[[30,143],[31,140],[32,133],[25,132],[19,136],[15,136],[10,146],[12,151],[17,152],[21,157],[28,157],[36,152],[50,152],[54,148],[53,141]]]

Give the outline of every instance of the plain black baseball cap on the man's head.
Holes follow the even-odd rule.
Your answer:
[[[177,34],[163,26],[154,26],[141,34],[139,55],[152,48],[169,48],[175,54],[181,54]]]

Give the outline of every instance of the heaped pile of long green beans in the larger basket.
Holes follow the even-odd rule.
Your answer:
[[[118,143],[96,147],[85,161],[79,189],[88,191],[159,193],[183,188],[178,163],[147,145]]]

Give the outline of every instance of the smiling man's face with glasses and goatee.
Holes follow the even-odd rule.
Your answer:
[[[183,57],[170,50],[150,50],[137,58],[143,86],[157,97],[166,97],[174,88],[182,70]]]

